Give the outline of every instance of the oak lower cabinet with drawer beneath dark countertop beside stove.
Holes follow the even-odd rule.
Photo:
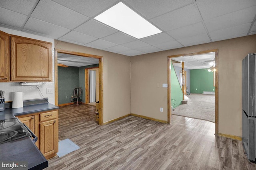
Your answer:
[[[58,110],[17,116],[38,137],[35,143],[46,159],[58,152]]]

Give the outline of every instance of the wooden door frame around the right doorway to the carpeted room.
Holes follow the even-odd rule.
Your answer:
[[[191,56],[191,55],[198,55],[198,54],[204,54],[204,53],[210,53],[210,52],[215,52],[215,135],[218,135],[219,132],[219,90],[218,90],[218,86],[219,86],[219,81],[218,81],[218,49],[212,49],[212,50],[206,50],[206,51],[200,51],[200,52],[196,52],[196,53],[187,53],[187,54],[180,54],[180,55],[170,55],[168,56],[168,93],[167,93],[167,123],[170,124],[171,121],[171,115],[172,115],[172,111],[171,111],[171,60],[173,57],[182,57],[182,56]]]

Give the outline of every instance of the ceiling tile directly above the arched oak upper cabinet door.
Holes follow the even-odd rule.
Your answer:
[[[27,23],[24,26],[24,29],[28,31],[34,31],[37,33],[41,33],[44,35],[49,35],[54,37],[55,39],[61,37],[70,29],[60,27],[45,21],[37,20],[35,18],[30,17],[27,21]]]

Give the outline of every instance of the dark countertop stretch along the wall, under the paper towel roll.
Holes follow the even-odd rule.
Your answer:
[[[30,113],[38,113],[38,112],[48,111],[48,110],[53,110],[58,108],[59,108],[58,106],[55,106],[50,103],[34,104],[29,106],[23,106],[16,109],[8,108],[8,109],[5,109],[4,111],[0,111],[0,120],[10,119],[10,118],[14,118],[15,116],[27,115]]]

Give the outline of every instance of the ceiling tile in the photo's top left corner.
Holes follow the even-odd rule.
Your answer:
[[[28,15],[36,2],[36,0],[0,0],[0,7]]]

